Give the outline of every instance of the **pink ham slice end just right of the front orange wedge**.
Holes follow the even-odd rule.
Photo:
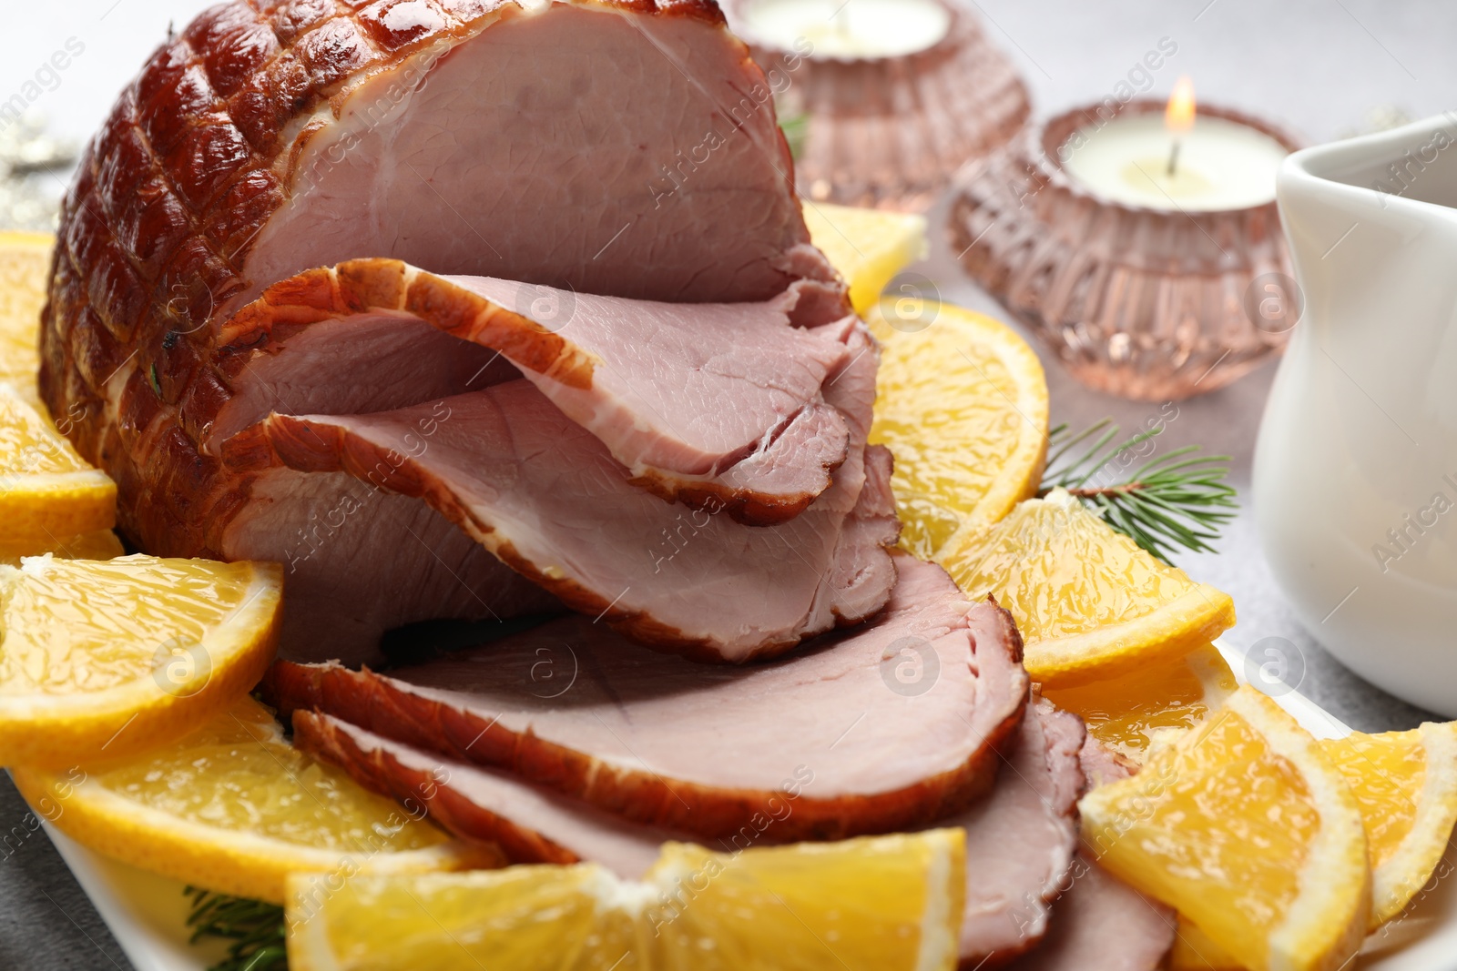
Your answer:
[[[1078,843],[1083,719],[1045,700],[1027,706],[991,795],[937,823],[966,830],[962,968],[994,967],[1037,946]]]

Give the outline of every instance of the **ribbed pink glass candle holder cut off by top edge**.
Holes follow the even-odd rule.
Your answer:
[[[937,42],[909,54],[826,52],[756,31],[752,4],[726,4],[759,64],[793,57],[777,93],[796,148],[796,182],[819,202],[924,211],[966,162],[1004,146],[1030,112],[1027,89],[976,19],[953,4]],[[804,54],[806,48],[809,54]]]

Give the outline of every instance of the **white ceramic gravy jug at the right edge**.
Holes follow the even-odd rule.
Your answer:
[[[1457,716],[1457,112],[1278,186],[1305,303],[1254,456],[1265,553],[1332,654]]]

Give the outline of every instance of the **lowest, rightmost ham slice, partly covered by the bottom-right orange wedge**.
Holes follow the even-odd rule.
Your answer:
[[[1129,767],[1091,737],[1080,753],[1087,786],[1129,776]],[[1155,971],[1174,943],[1174,911],[1148,900],[1078,850],[1067,891],[1036,951],[1013,971]]]

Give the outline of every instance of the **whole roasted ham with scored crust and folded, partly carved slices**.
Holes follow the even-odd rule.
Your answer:
[[[235,0],[66,198],[42,393],[284,649],[578,610],[699,659],[883,607],[877,355],[707,0]]]

